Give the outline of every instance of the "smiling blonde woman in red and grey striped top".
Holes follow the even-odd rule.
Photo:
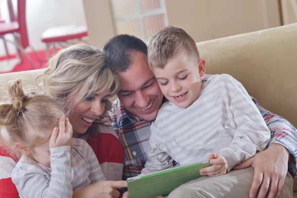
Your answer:
[[[122,179],[123,150],[107,123],[111,108],[108,98],[117,93],[120,80],[106,66],[104,54],[88,45],[63,49],[49,60],[49,68],[36,78],[36,82],[43,92],[63,106],[73,127],[73,137],[87,141],[105,177],[112,180],[76,190],[73,197],[119,197],[116,189],[126,187],[125,181],[119,181]]]

